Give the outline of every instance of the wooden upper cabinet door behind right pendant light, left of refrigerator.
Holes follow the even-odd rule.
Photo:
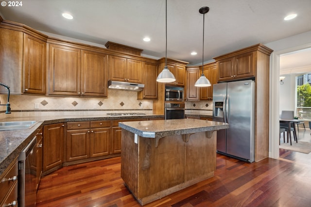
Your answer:
[[[200,88],[200,100],[212,100],[213,99],[213,84],[218,82],[218,68],[216,63],[205,64],[203,67],[203,74],[209,80],[211,86]]]

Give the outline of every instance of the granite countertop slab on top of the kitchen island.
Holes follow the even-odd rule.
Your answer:
[[[225,129],[229,128],[229,124],[200,119],[169,119],[119,122],[119,127],[138,134],[141,137],[161,138],[172,135]]]

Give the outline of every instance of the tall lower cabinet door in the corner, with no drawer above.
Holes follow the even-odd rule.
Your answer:
[[[61,167],[64,159],[64,123],[43,127],[43,172]]]

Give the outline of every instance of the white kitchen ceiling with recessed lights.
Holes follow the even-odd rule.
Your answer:
[[[203,6],[210,9],[204,61],[311,31],[311,0],[167,0],[168,58],[202,64]],[[63,18],[63,12],[74,18]],[[291,13],[297,17],[283,20]],[[165,57],[165,0],[23,0],[21,7],[0,6],[0,16],[102,47],[110,41]],[[143,42],[145,36],[151,41]]]

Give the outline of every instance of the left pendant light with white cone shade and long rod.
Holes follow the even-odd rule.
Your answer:
[[[167,67],[167,0],[165,0],[165,66],[162,72],[157,76],[158,82],[173,82],[175,77]]]

